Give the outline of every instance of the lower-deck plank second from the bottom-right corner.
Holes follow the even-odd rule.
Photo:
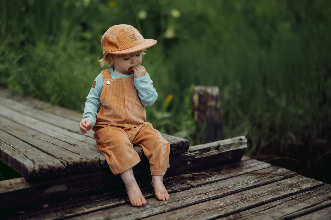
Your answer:
[[[227,219],[293,219],[314,212],[323,207],[331,206],[330,198],[331,186],[322,186],[317,189],[293,195],[289,198],[284,198],[227,216]]]

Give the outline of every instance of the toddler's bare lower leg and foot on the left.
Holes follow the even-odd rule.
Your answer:
[[[140,188],[137,184],[136,179],[134,178],[132,168],[123,173],[119,174],[125,184],[127,195],[129,196],[129,200],[131,205],[140,206],[147,203],[143,194],[140,191]]]

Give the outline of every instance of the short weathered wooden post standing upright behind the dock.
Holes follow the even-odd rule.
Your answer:
[[[217,86],[196,86],[193,90],[195,140],[203,144],[224,139]]]

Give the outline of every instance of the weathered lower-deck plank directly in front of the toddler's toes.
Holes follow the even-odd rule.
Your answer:
[[[293,172],[277,167],[270,167],[261,172],[272,172],[278,174],[294,174]],[[260,187],[272,182],[276,182],[288,178],[287,176],[272,175],[272,174],[242,174],[236,177],[217,181],[211,184],[203,184],[200,187],[193,187],[189,190],[182,192],[172,193],[170,200],[166,202],[158,201],[156,198],[147,200],[147,204],[139,207],[138,210],[129,208],[130,204],[114,207],[111,209],[105,209],[98,212],[93,212],[87,215],[80,215],[73,219],[104,219],[104,217],[110,217],[112,219],[141,219],[149,216],[157,215],[164,212],[169,212],[187,206],[202,204],[203,202],[215,200],[220,197],[236,194],[248,189]],[[237,183],[237,184],[234,184]],[[188,199],[189,198],[189,199]],[[195,207],[198,209],[198,206]],[[155,219],[158,219],[158,215]],[[172,219],[174,216],[171,216]],[[197,219],[193,218],[192,219]],[[176,219],[176,218],[174,218]],[[190,218],[189,218],[190,219]]]

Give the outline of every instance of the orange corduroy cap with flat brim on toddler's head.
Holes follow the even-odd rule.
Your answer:
[[[101,39],[104,55],[134,53],[152,47],[156,43],[156,40],[144,39],[136,28],[128,24],[110,27]]]

